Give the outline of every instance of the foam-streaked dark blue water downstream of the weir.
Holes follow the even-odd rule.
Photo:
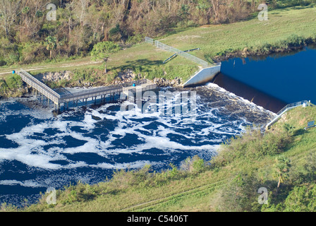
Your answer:
[[[95,184],[117,169],[150,164],[162,170],[193,155],[210,160],[226,138],[273,115],[214,84],[196,91],[194,121],[121,112],[119,104],[54,116],[52,109],[35,105],[35,97],[1,101],[0,203],[34,203],[48,187]]]

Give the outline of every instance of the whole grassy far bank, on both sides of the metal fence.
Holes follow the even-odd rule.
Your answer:
[[[281,8],[269,11],[268,21],[260,21],[254,15],[253,18],[238,23],[178,30],[158,40],[183,50],[199,47],[200,51],[191,52],[191,54],[209,62],[231,56],[284,52],[292,47],[315,42],[315,13],[316,8],[313,6]],[[107,75],[102,73],[102,63],[94,64],[90,61],[90,57],[51,64],[0,68],[0,79],[4,79],[0,81],[0,93],[20,95],[22,92],[20,84],[10,85],[4,82],[11,77],[11,70],[20,67],[29,70],[32,74],[65,70],[74,72],[75,76],[71,81],[59,81],[59,83],[51,84],[53,87],[78,85],[78,80],[101,85],[113,81],[119,71],[126,69],[135,71],[142,78],[180,77],[186,81],[198,70],[197,64],[182,57],[177,57],[168,64],[162,64],[170,56],[170,52],[141,43],[113,54],[107,64],[109,68]]]

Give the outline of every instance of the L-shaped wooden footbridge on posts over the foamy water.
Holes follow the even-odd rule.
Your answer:
[[[52,90],[47,85],[42,83],[41,81],[37,80],[37,78],[30,75],[30,73],[24,71],[23,69],[20,69],[20,71],[16,71],[16,73],[18,73],[22,80],[27,84],[28,89],[32,88],[33,94],[42,95],[42,99],[43,97],[46,97],[48,105],[51,101],[54,103],[55,108],[58,107],[58,109],[60,108],[61,104],[63,104],[63,106],[68,109],[69,102],[74,102],[78,105],[78,101],[82,100],[87,104],[88,99],[95,100],[96,102],[97,97],[99,97],[101,98],[101,100],[105,101],[105,97],[107,95],[114,97],[114,95],[121,95],[121,93],[127,95],[128,91],[141,90],[142,92],[144,92],[146,90],[154,90],[157,88],[156,84],[152,83],[147,79],[142,79],[130,83],[109,85],[101,88],[92,88],[76,93],[66,93],[60,95],[59,93],[56,93],[56,91]]]

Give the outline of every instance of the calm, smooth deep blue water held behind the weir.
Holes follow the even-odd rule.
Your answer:
[[[221,73],[286,103],[316,103],[315,61],[316,49],[305,47],[291,55],[229,59],[222,62]]]

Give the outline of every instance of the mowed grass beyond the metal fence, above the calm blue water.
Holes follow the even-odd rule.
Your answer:
[[[200,51],[192,54],[209,60],[226,51],[275,44],[291,35],[305,38],[316,36],[315,7],[277,9],[269,11],[268,18],[268,21],[260,21],[255,14],[250,20],[193,28],[162,37],[160,41],[178,49],[200,48]]]

